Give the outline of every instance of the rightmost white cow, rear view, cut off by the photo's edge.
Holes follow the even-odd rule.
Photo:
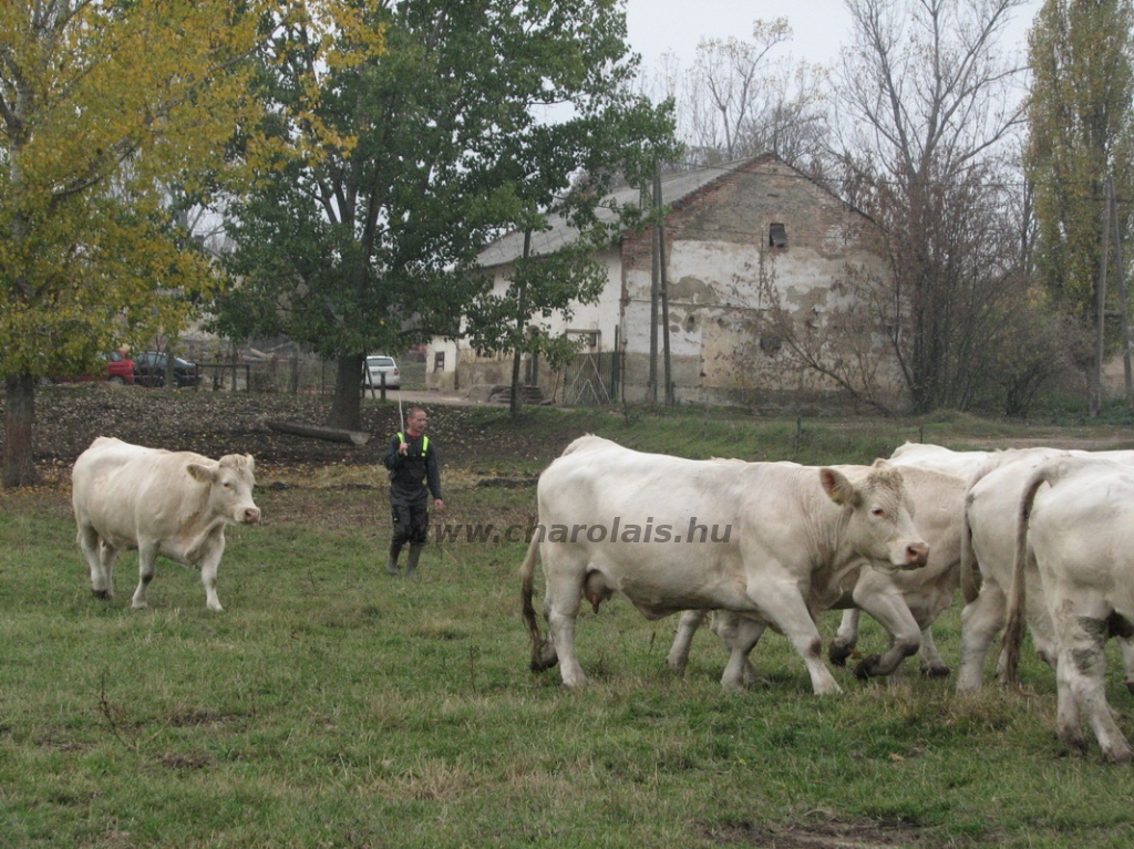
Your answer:
[[[1134,752],[1107,705],[1103,650],[1109,636],[1134,632],[1134,467],[1085,457],[1047,460],[1026,477],[1017,509],[1006,677],[1016,677],[1026,572],[1038,570],[1053,623],[1059,739],[1085,748],[1082,713],[1103,756],[1127,762]]]

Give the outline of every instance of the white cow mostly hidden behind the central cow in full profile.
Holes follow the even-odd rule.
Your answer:
[[[930,626],[949,606],[958,585],[960,513],[966,482],[956,475],[916,466],[903,468],[902,477],[913,502],[914,526],[929,543],[929,562],[924,569],[889,574],[864,568],[858,572],[854,588],[831,605],[836,609],[848,608],[830,647],[830,659],[838,665],[846,662],[857,642],[860,611],[870,613],[890,634],[890,647],[886,653],[871,655],[857,665],[855,674],[860,678],[894,673],[902,661],[917,652],[919,647],[922,671],[926,676],[943,677],[949,673],[933,643]],[[847,614],[854,614],[853,619],[848,619]],[[672,669],[685,668],[693,634],[705,615],[702,610],[682,614],[667,657]],[[718,611],[712,619],[712,630],[728,648],[738,627],[736,619],[737,614],[727,611]],[[755,668],[746,664],[745,682],[754,678]]]

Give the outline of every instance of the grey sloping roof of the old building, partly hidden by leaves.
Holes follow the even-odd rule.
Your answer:
[[[758,156],[756,159],[767,159]],[[709,184],[721,179],[726,175],[737,170],[741,165],[752,162],[751,159],[726,162],[710,168],[699,168],[694,171],[675,173],[661,178],[661,202],[667,206],[676,206],[682,199],[695,192],[704,188]],[[616,220],[612,207],[636,204],[641,197],[641,189],[632,186],[619,189],[604,198],[603,203],[595,210],[595,217],[603,222]],[[578,230],[567,223],[561,215],[549,215],[548,224],[550,229],[540,230],[532,234],[532,255],[552,254],[565,245],[569,245],[578,238]],[[507,265],[524,255],[524,234],[515,230],[507,236],[497,239],[484,248],[476,257],[476,264],[481,268],[493,268],[496,265]]]

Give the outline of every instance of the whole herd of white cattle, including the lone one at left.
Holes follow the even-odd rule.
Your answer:
[[[225,527],[260,521],[253,473],[249,456],[212,460],[96,439],[71,475],[95,595],[112,597],[115,560],[136,549],[132,606],[146,606],[162,555],[200,566],[206,605],[221,610]],[[947,676],[930,628],[959,587],[959,691],[981,687],[1000,631],[997,674],[1016,682],[1026,627],[1056,670],[1060,739],[1084,748],[1085,721],[1107,759],[1134,755],[1105,688],[1105,647],[1114,637],[1134,691],[1134,451],[906,443],[872,466],[815,467],[687,460],[589,435],[543,472],[536,493],[539,527],[559,532],[534,536],[521,569],[532,669],[558,663],[568,687],[587,682],[575,654],[582,602],[598,611],[616,592],[649,619],[680,613],[668,659],[675,669],[685,667],[694,631],[711,615],[729,651],[727,688],[756,680],[750,653],[770,626],[792,640],[815,693],[839,693],[816,627],[832,609],[844,610],[832,662],[852,656],[865,611],[890,645],[863,659],[858,677],[891,674],[919,651],[925,674]],[[651,528],[662,527],[666,534],[651,538]],[[684,540],[674,533],[683,528]],[[536,561],[545,637],[532,603]]]

